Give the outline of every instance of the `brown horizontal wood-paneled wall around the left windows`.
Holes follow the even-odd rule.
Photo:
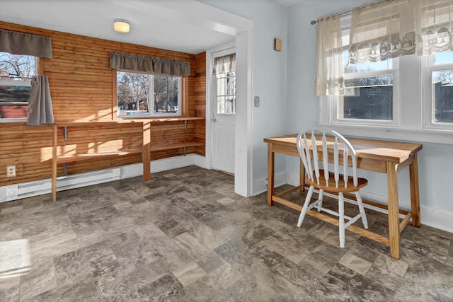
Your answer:
[[[25,25],[4,23],[0,28],[24,33],[47,35],[52,38],[52,59],[40,59],[40,74],[47,74],[52,95],[52,107],[55,122],[86,122],[115,120],[116,100],[113,100],[116,83],[113,83],[115,69],[110,69],[110,52],[126,52],[149,57],[175,59],[191,64],[188,79],[188,117],[205,117],[205,52],[186,54],[144,47],[110,40],[96,39],[52,30],[32,28]],[[120,129],[122,126],[120,126]],[[151,140],[154,144],[164,144],[169,138],[179,141],[205,142],[205,122],[153,122]],[[105,141],[108,133],[115,141],[115,129],[95,129],[96,140]],[[93,132],[93,129],[91,129]],[[118,133],[119,135],[120,133]],[[124,133],[123,133],[124,134]],[[132,142],[137,142],[139,134],[132,135]],[[191,136],[191,137],[190,137]],[[96,144],[86,137],[80,144]],[[159,141],[161,140],[161,141]],[[19,182],[28,182],[50,178],[52,156],[52,128],[49,126],[25,126],[25,123],[0,123],[0,186]],[[205,155],[205,148],[191,147],[187,153]],[[182,155],[182,149],[151,153],[151,159]],[[140,156],[127,156],[105,161],[86,161],[68,165],[68,173],[81,173],[112,166],[141,162]],[[16,165],[16,178],[6,178],[6,165]],[[61,168],[59,168],[59,175]]]

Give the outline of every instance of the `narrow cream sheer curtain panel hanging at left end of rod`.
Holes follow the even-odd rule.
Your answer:
[[[316,21],[315,95],[343,95],[343,43],[338,13]]]

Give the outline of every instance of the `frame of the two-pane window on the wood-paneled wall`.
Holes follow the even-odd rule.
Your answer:
[[[148,74],[146,72],[141,72],[141,71],[130,71],[130,70],[123,70],[123,69],[114,69],[115,73],[115,108],[116,108],[116,118],[119,119],[137,119],[137,118],[151,118],[151,119],[156,119],[156,118],[166,118],[166,117],[183,117],[183,112],[184,112],[184,107],[185,107],[185,95],[186,92],[185,90],[187,89],[187,85],[185,84],[187,81],[185,78],[187,76],[170,76],[170,77],[175,77],[178,79],[178,112],[161,112],[161,113],[155,113],[154,112],[154,97],[149,100],[148,104],[148,114],[139,114],[139,115],[127,115],[127,114],[120,114],[120,111],[124,110],[119,110],[118,109],[118,96],[117,96],[117,91],[118,91],[118,86],[117,86],[117,76],[118,73],[128,73],[128,74],[147,74],[149,76],[149,94],[154,95],[154,76],[168,76],[167,74]],[[129,110],[129,111],[136,111],[136,110]]]

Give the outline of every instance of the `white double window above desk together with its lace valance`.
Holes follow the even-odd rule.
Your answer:
[[[453,1],[386,5],[380,16],[377,5],[365,18],[342,16],[345,94],[321,96],[320,124],[345,134],[453,144]],[[364,27],[351,36],[357,20]]]

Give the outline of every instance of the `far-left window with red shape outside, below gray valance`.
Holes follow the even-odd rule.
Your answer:
[[[25,119],[38,57],[0,52],[0,121]]]

